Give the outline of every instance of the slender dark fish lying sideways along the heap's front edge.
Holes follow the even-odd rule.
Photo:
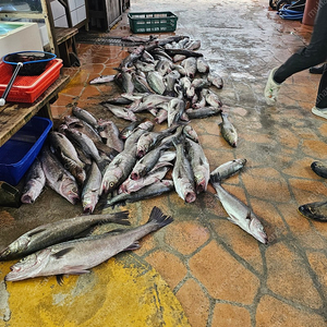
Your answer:
[[[132,193],[121,193],[118,194],[107,201],[107,204],[105,205],[105,208],[112,207],[117,204],[122,203],[133,203],[146,198],[152,198],[155,196],[159,196],[164,193],[171,192],[174,189],[173,181],[171,180],[161,180],[157,181],[150,185],[147,185],[137,192]]]

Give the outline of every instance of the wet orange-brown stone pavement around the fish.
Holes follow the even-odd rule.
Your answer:
[[[192,204],[184,204],[172,192],[118,208],[129,209],[135,226],[147,220],[154,206],[174,218],[173,223],[144,238],[141,249],[129,255],[158,271],[193,327],[327,326],[327,225],[298,211],[300,205],[325,201],[327,195],[326,180],[310,167],[327,159],[326,121],[311,113],[320,75],[303,71],[290,77],[275,107],[267,107],[263,97],[269,70],[307,44],[312,27],[281,20],[263,0],[134,0],[130,11],[177,14],[175,34],[199,39],[198,51],[223,77],[219,96],[238,130],[238,146],[232,148],[222,138],[220,117],[193,120],[192,126],[211,170],[246,158],[245,168],[225,181],[223,187],[259,217],[268,244],[261,244],[228,221],[209,185]],[[130,34],[124,13],[109,36]],[[88,81],[114,74],[113,69],[126,55],[121,46],[80,44],[82,65],[64,69],[72,81],[52,105],[56,122],[70,114],[73,105],[97,117],[112,118],[99,102],[118,95],[119,88],[112,83],[89,85]],[[125,125],[114,121],[120,128]],[[82,207],[47,189],[31,206],[0,210],[1,249],[41,222],[81,215]],[[102,265],[109,264],[114,263]],[[1,264],[0,270],[9,271]],[[7,307],[2,302],[0,313]],[[14,325],[2,323],[0,315],[0,326]],[[131,326],[144,325],[134,322]],[[170,325],[158,318],[148,326]]]

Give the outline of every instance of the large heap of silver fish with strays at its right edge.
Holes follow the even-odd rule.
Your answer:
[[[73,108],[73,116],[49,134],[31,168],[22,202],[33,203],[47,183],[72,204],[82,201],[84,213],[89,214],[100,196],[107,197],[107,206],[113,206],[174,190],[185,203],[193,203],[207,190],[210,170],[192,120],[220,116],[222,137],[230,146],[238,145],[237,130],[217,93],[223,87],[222,78],[196,51],[199,47],[199,41],[185,36],[152,37],[130,49],[116,75],[90,81],[114,82],[121,87],[118,97],[101,106],[128,125],[119,130],[112,120]],[[154,118],[145,119],[143,113]],[[160,126],[164,122],[166,129]],[[241,167],[245,161],[241,160]],[[225,206],[231,197],[222,196],[220,182],[230,171],[238,171],[233,165],[217,168],[211,182],[231,221],[266,243],[250,209],[239,206],[237,217]]]

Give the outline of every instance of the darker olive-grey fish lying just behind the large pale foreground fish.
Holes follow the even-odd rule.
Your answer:
[[[99,223],[131,225],[128,217],[129,211],[124,210],[106,215],[83,215],[40,225],[25,232],[2,250],[0,261],[21,258],[47,246],[68,241]]]

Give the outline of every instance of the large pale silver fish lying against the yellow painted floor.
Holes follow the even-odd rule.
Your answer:
[[[173,218],[154,207],[145,225],[121,233],[106,233],[48,246],[11,266],[5,281],[38,276],[81,275],[122,251],[140,247],[138,240],[171,223]]]

